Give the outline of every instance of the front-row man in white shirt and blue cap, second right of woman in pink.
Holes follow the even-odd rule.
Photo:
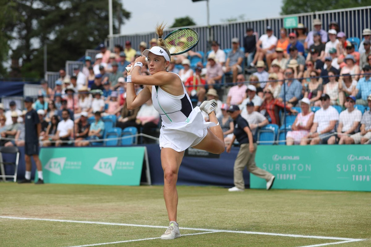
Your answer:
[[[347,135],[354,134],[359,131],[359,123],[362,119],[362,113],[360,110],[355,109],[354,105],[355,97],[348,96],[347,101],[344,104],[347,109],[342,111],[339,115],[337,132],[341,134],[331,136],[327,141],[328,144],[335,144],[335,142],[338,142],[339,144],[346,144],[345,140],[348,138]]]

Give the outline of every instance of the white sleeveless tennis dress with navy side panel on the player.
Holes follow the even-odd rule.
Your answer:
[[[192,108],[183,83],[182,86],[184,94],[180,96],[167,93],[160,86],[152,86],[153,106],[162,119],[160,148],[170,147],[178,152],[196,146],[206,136],[207,128],[216,126],[205,121],[200,107]]]

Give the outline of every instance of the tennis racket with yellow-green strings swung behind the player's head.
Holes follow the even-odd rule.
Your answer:
[[[170,55],[179,55],[186,53],[197,46],[198,33],[188,27],[183,27],[169,33],[165,39],[166,48],[170,51]],[[146,58],[147,61],[147,58]],[[126,71],[130,71],[130,67],[125,68]]]

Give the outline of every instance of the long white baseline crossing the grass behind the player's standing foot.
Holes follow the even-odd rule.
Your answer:
[[[98,222],[98,221],[56,220],[56,219],[24,218],[24,217],[12,217],[12,216],[0,216],[0,218],[8,218],[8,219],[14,219],[14,220],[41,220],[41,221],[56,221],[56,222],[68,222],[68,223],[101,224],[101,225],[112,225],[112,226],[167,228],[165,226],[151,226],[151,225],[124,224],[124,223],[108,223],[108,222]],[[263,233],[263,232],[256,232],[256,231],[230,231],[230,230],[188,228],[188,227],[179,227],[179,229],[195,230],[195,231],[208,231],[208,232],[259,234],[259,235],[282,236],[282,237],[317,238],[317,239],[329,239],[329,240],[343,240],[343,241],[351,241],[351,242],[364,240],[364,239],[360,239],[360,238],[341,238],[341,237],[308,236],[308,235],[281,234],[281,233]],[[342,242],[338,242],[338,243],[342,243]],[[334,244],[334,243],[331,243],[331,244]],[[328,245],[328,244],[326,244],[326,245]],[[314,245],[314,246],[317,246],[317,245]]]

